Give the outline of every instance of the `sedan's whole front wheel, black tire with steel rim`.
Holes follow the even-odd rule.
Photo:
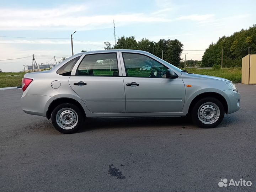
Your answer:
[[[206,105],[204,106],[204,104]],[[199,108],[201,110],[199,110]],[[191,111],[191,118],[194,124],[196,124],[201,128],[214,128],[214,127],[217,127],[222,122],[224,118],[224,114],[225,114],[224,107],[217,98],[205,97],[197,101],[197,103],[194,105]],[[210,121],[210,122],[207,122],[207,121]],[[210,124],[207,124],[207,123],[210,123]]]

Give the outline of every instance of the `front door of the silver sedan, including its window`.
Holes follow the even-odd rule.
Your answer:
[[[181,74],[176,79],[165,78],[165,65],[137,53],[122,52],[125,68],[124,87],[126,113],[181,112],[185,99],[185,85]],[[149,65],[151,70],[139,69]]]

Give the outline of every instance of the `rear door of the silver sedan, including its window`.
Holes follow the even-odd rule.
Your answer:
[[[73,69],[76,70],[75,75],[70,76],[71,88],[92,113],[125,111],[124,83],[117,54],[86,54],[78,67]]]

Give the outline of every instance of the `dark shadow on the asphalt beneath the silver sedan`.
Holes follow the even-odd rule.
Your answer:
[[[234,118],[225,116],[223,122],[216,128],[232,126],[236,121]],[[161,128],[161,129],[196,129],[205,130],[193,124],[191,119],[186,117],[136,117],[136,118],[86,118],[78,133],[102,129],[138,129],[138,128]],[[214,128],[213,128],[214,129]],[[50,120],[31,124],[24,127],[22,132],[48,132],[49,134],[59,133],[54,129]],[[62,133],[59,133],[62,134]]]

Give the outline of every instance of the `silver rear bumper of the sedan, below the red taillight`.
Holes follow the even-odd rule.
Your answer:
[[[46,112],[54,97],[46,95],[23,94],[21,97],[21,109],[27,114],[46,117]]]

